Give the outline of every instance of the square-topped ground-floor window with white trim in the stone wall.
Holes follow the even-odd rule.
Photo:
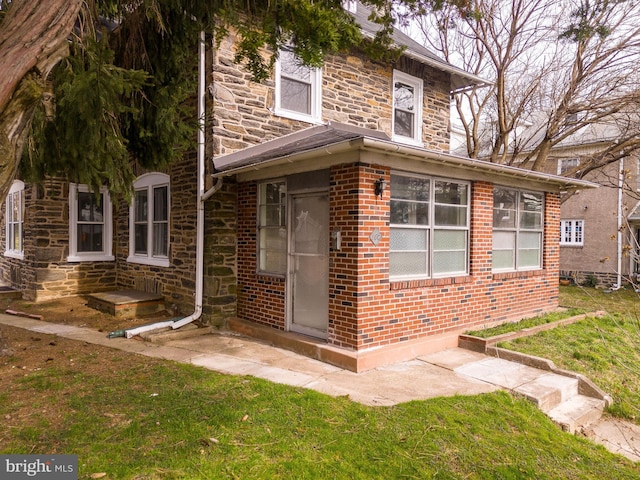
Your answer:
[[[69,185],[69,262],[114,260],[109,192],[96,194],[87,185]]]

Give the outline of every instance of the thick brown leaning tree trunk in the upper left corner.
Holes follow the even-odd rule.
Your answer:
[[[33,112],[67,42],[83,0],[13,0],[0,23],[0,201],[22,156]]]

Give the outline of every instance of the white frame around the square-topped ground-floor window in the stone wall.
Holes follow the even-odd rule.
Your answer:
[[[101,252],[78,251],[78,193],[93,193],[87,185],[69,184],[69,256],[68,262],[103,262],[113,261],[113,206],[106,187],[100,189],[102,201],[102,245]]]

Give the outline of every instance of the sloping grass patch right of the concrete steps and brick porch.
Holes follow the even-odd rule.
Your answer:
[[[631,290],[607,294],[593,288],[563,287],[562,304],[608,314],[499,346],[548,358],[560,368],[585,374],[612,396],[611,414],[640,423],[638,300]]]

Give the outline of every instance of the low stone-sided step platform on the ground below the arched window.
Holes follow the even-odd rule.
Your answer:
[[[136,318],[164,311],[164,297],[138,290],[93,293],[87,305],[116,318]]]

